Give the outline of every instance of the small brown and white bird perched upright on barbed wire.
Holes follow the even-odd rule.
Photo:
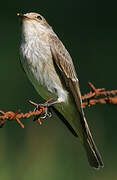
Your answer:
[[[104,166],[86,121],[79,80],[62,41],[39,13],[18,13],[21,19],[20,61],[38,94],[84,147],[91,167]]]

